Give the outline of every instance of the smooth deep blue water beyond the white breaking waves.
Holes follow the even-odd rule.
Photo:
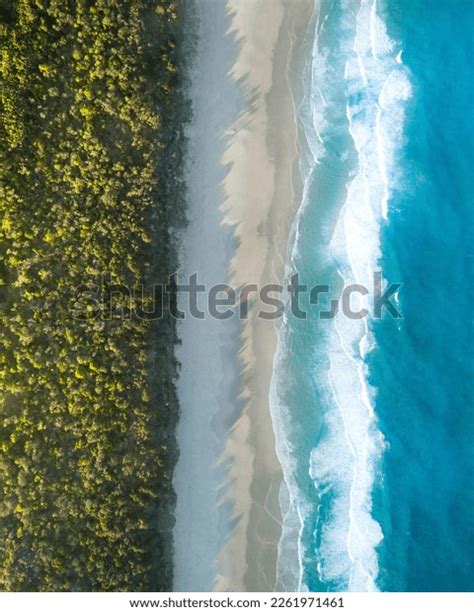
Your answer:
[[[413,96],[403,189],[383,270],[404,283],[403,322],[375,326],[370,380],[389,444],[375,515],[379,588],[474,588],[474,2],[393,0]]]

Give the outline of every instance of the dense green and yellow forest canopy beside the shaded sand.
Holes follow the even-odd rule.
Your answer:
[[[170,589],[175,326],[74,296],[173,268],[180,6],[0,0],[0,28],[0,589]]]

